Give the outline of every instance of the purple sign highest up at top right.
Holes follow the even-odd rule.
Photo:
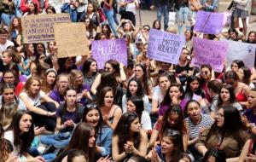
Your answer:
[[[194,30],[207,34],[218,34],[222,30],[224,14],[198,11],[195,18]]]

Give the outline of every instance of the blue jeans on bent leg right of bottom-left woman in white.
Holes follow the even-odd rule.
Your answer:
[[[55,148],[65,148],[70,141],[72,132],[60,132],[55,135],[41,136],[41,142],[45,145],[54,145]]]

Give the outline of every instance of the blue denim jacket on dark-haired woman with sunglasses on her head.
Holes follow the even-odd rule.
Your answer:
[[[102,133],[98,132],[98,136],[96,139],[96,145],[101,149],[101,157],[107,155],[111,156],[112,135],[113,130],[108,125],[103,124]]]

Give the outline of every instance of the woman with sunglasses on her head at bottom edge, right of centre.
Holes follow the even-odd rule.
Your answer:
[[[183,159],[181,156],[184,152],[182,138],[183,136],[177,130],[165,130],[160,146],[153,148],[146,158],[154,162],[177,162]]]

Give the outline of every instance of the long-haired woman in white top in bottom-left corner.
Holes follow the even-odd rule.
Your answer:
[[[12,123],[7,131],[4,132],[4,138],[11,142],[14,147],[13,154],[19,157],[19,161],[42,162],[44,158],[40,156],[33,158],[28,153],[34,136],[32,115],[25,110],[20,110],[15,113]]]

